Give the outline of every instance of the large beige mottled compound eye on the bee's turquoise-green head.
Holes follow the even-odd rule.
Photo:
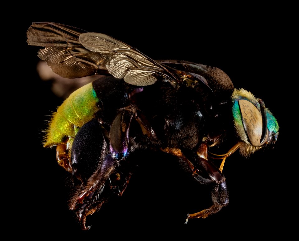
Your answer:
[[[269,132],[267,131],[266,138],[263,143],[261,143],[263,133],[263,118],[261,112],[254,104],[245,99],[239,100],[239,107],[243,126],[250,143],[255,147],[262,146],[268,140]]]

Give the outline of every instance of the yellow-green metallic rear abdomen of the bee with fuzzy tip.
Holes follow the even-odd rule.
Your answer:
[[[44,147],[60,144],[65,138],[72,139],[78,129],[93,118],[98,98],[92,83],[77,89],[57,108],[46,129]],[[71,143],[69,143],[71,144]]]

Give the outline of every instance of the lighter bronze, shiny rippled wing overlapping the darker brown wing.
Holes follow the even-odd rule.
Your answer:
[[[158,79],[176,79],[159,62],[131,46],[102,33],[83,33],[79,41],[88,50],[106,55],[108,72],[134,85],[151,85]]]

